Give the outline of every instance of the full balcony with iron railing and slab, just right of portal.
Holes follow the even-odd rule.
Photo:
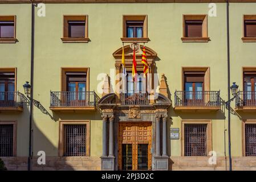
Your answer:
[[[175,107],[178,111],[217,111],[221,109],[220,91],[176,91]]]

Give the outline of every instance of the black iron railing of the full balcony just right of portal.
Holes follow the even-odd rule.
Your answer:
[[[221,106],[220,91],[176,91],[175,106]]]

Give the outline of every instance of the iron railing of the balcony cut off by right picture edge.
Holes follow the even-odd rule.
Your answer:
[[[256,91],[239,91],[235,98],[235,106],[251,106],[256,107]]]

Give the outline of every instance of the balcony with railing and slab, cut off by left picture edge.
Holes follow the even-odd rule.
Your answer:
[[[0,112],[22,112],[25,96],[19,92],[0,92]]]

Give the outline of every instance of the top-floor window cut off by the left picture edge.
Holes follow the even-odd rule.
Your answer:
[[[0,16],[0,43],[15,43],[15,16]]]

